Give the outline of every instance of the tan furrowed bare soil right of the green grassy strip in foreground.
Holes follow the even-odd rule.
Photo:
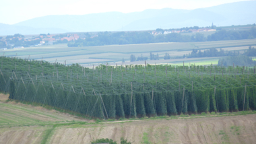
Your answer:
[[[249,114],[59,127],[51,143],[90,143],[101,138],[120,141],[121,137],[133,143],[254,143],[255,124],[256,114]]]

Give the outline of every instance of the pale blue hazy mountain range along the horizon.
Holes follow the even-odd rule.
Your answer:
[[[65,32],[155,30],[191,26],[231,26],[256,23],[256,1],[227,3],[201,9],[147,9],[133,13],[47,15],[18,24],[0,24],[0,36]]]

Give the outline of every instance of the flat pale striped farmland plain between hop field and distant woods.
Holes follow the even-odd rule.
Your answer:
[[[256,46],[256,40],[226,40],[216,42],[169,42],[154,44],[127,44],[127,45],[111,45],[111,46],[86,46],[86,47],[67,47],[67,44],[57,44],[49,46],[36,46],[21,49],[12,49],[0,51],[5,52],[7,57],[21,57],[22,59],[40,60],[55,63],[56,59],[59,63],[66,61],[67,65],[79,63],[84,67],[92,67],[101,63],[121,64],[124,58],[125,63],[129,64],[130,55],[135,57],[150,57],[150,52],[158,53],[160,60],[168,52],[171,57],[183,56],[191,53],[193,49],[205,50],[207,48],[222,48],[224,50],[245,50],[248,46]],[[180,60],[176,60],[180,61]],[[148,63],[169,63],[166,61],[149,61]]]

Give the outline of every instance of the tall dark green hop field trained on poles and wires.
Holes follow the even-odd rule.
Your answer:
[[[0,91],[87,118],[256,109],[255,67],[100,65],[0,57]]]

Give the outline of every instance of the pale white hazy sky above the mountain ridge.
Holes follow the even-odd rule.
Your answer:
[[[3,0],[0,23],[15,24],[44,15],[83,15],[106,11],[129,13],[145,9],[197,9],[245,0]]]

